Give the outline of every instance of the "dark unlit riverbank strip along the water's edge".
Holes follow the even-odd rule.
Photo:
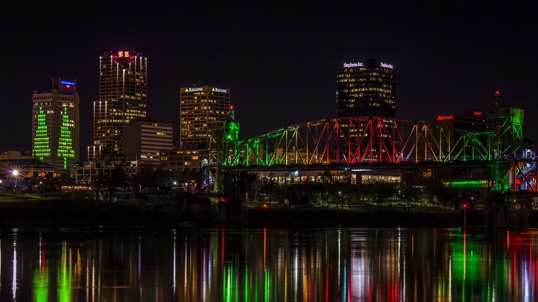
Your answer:
[[[197,221],[195,222],[195,219]],[[484,227],[482,211],[468,213],[468,227]],[[218,226],[215,214],[188,214],[181,203],[104,203],[88,199],[36,199],[0,203],[0,227],[157,227]],[[244,208],[246,227],[461,227],[459,211],[437,213],[355,211],[340,208]],[[530,225],[535,225],[531,223]]]

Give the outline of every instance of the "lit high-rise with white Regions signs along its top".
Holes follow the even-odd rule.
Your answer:
[[[208,85],[182,87],[179,124],[180,148],[208,148],[208,123],[226,120],[229,112],[230,89]]]

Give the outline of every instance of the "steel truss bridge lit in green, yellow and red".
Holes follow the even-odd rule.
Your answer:
[[[376,116],[327,118],[246,140],[230,139],[237,133],[227,135],[224,128],[210,153],[228,171],[487,167],[493,190],[538,192],[537,161],[519,156],[522,123],[490,118],[489,128],[470,132]]]

